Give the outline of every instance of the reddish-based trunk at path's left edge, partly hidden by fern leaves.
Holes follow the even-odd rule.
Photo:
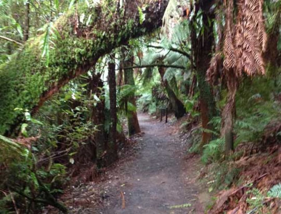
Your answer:
[[[129,60],[124,60],[124,67],[131,67],[133,66],[134,56],[131,56]],[[134,80],[134,70],[133,69],[126,69],[124,70],[124,82],[127,85],[135,86],[135,80]],[[128,97],[128,102],[131,102],[134,106],[136,106],[136,98],[135,94]],[[127,116],[128,121],[128,131],[129,136],[134,135],[136,133],[141,132],[141,128],[138,121],[138,116],[136,111],[129,112]]]

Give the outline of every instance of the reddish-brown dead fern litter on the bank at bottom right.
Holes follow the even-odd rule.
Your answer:
[[[227,164],[229,169],[239,169],[239,182],[231,183],[230,189],[218,194],[210,213],[281,213],[281,200],[267,197],[269,189],[281,183],[281,147],[276,141],[280,129],[280,122],[270,123],[261,142],[248,142],[236,148],[236,152],[243,151],[243,155]],[[249,199],[256,200],[256,204],[252,206]]]

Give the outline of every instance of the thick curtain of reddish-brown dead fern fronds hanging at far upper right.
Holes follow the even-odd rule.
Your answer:
[[[263,0],[238,0],[237,6],[234,38],[237,76],[241,76],[243,71],[249,76],[265,74],[262,53],[266,48],[267,36]]]

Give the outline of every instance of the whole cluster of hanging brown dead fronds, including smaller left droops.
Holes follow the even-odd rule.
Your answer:
[[[223,74],[229,86],[233,84],[230,79],[241,77],[243,71],[249,76],[265,74],[262,54],[266,49],[267,35],[264,27],[263,3],[263,0],[238,0],[234,25],[234,2],[233,0],[224,2],[226,12],[222,51]],[[209,81],[214,79],[220,60],[221,54],[218,52],[207,71]]]

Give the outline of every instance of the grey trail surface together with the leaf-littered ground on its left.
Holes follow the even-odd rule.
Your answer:
[[[195,184],[198,158],[185,159],[186,137],[177,124],[138,114],[142,132],[121,159],[93,181],[95,166],[79,174],[60,197],[69,214],[203,214],[209,200]],[[88,175],[87,175],[88,174]],[[86,176],[87,175],[87,176]],[[96,180],[95,180],[96,179]],[[49,207],[44,214],[57,214]]]

